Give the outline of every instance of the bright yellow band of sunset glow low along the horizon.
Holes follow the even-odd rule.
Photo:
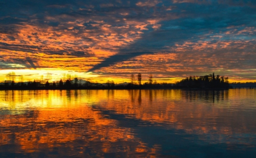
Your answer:
[[[70,70],[56,70],[56,69],[19,69],[19,70],[0,70],[0,82],[5,82],[5,80],[11,80],[8,74],[10,72],[14,72],[15,77],[14,81],[18,82],[32,82],[34,80],[38,80],[42,82],[48,80],[48,82],[59,82],[60,79],[82,79],[82,80],[89,80],[90,82],[94,83],[106,83],[108,81],[113,81],[116,84],[119,83],[130,83],[131,82],[131,74],[127,75],[110,75],[104,74],[102,72],[77,72],[77,71],[70,71]],[[216,73],[217,74],[217,73]],[[22,78],[21,78],[22,76]],[[134,74],[134,84],[137,84],[137,74]],[[189,76],[189,75],[188,75]],[[161,77],[154,75],[154,82],[156,83],[176,83],[180,80],[188,77],[188,76],[172,76],[170,78]],[[143,74],[142,84],[148,82],[148,74]],[[243,78],[229,78],[229,83],[233,82],[256,82],[253,79],[243,79]]]

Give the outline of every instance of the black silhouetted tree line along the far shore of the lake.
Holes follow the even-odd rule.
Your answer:
[[[213,89],[213,88],[230,88],[228,77],[220,75],[204,75],[204,76],[189,76],[179,82],[173,83],[158,83],[153,78],[152,74],[146,76],[146,82],[142,84],[142,74],[131,74],[130,82],[126,84],[116,84],[114,81],[108,80],[106,83],[94,83],[90,80],[81,80],[77,77],[71,79],[60,79],[57,82],[49,82],[49,77],[46,81],[34,80],[33,82],[22,82],[22,77],[19,76],[20,82],[15,83],[15,73],[10,72],[6,75],[9,80],[5,80],[0,84],[0,89],[170,89],[170,88],[200,88],[200,89]],[[83,81],[83,82],[81,82]]]

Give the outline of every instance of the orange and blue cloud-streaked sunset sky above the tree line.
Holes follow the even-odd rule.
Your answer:
[[[0,81],[256,82],[254,0],[2,0]],[[50,76],[50,77],[49,77]]]

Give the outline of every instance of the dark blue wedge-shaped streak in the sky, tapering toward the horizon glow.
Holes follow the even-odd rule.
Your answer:
[[[141,39],[135,41],[134,44],[127,46],[127,48],[121,49],[120,52],[129,50],[143,50],[148,51],[148,53],[150,53],[149,51],[168,51],[165,50],[165,46],[174,46],[177,43],[181,44],[185,41],[196,42],[199,40],[209,40],[210,36],[218,35],[221,32],[225,32],[228,30],[228,27],[231,26],[238,27],[238,31],[245,29],[245,27],[248,26],[255,27],[254,20],[251,20],[256,19],[256,14],[254,10],[255,8],[251,8],[249,6],[227,6],[226,4],[205,6],[197,5],[196,3],[189,4],[188,6],[185,3],[181,3],[177,5],[177,8],[183,10],[180,11],[181,18],[163,20],[162,22],[160,22],[162,27],[158,31],[144,31],[144,35]],[[176,10],[174,12],[179,12],[179,10]],[[207,35],[209,32],[211,32],[210,35],[204,36]],[[255,37],[255,33],[253,36]],[[229,36],[228,39],[236,40],[233,36]],[[227,40],[227,37],[225,40]],[[214,42],[214,40],[212,40],[212,42]],[[236,48],[236,45],[234,45],[234,47]],[[168,49],[169,48],[170,47],[168,47]],[[234,51],[240,52],[240,50]],[[215,53],[219,54],[222,53],[222,51],[218,51]],[[132,57],[139,55],[135,54]],[[101,64],[96,65],[91,70],[97,70],[101,67],[107,67],[110,65],[110,62],[114,64],[115,62],[119,62],[120,59],[122,61],[123,58],[129,59],[130,57],[129,55],[122,55],[122,58],[120,58],[119,54],[117,54],[113,57],[106,59]],[[211,66],[208,65],[208,67],[210,69]],[[237,65],[235,67],[237,68]],[[230,68],[232,68],[232,66],[230,66]]]

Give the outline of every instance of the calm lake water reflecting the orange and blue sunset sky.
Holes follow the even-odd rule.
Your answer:
[[[0,157],[255,157],[256,89],[0,91]]]

